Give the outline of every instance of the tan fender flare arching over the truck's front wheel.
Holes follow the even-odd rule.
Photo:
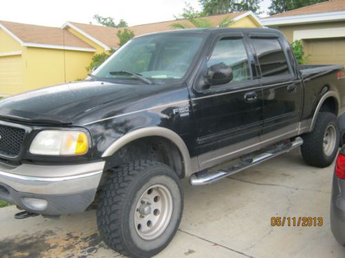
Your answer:
[[[177,146],[177,149],[179,149],[179,152],[181,153],[181,158],[183,159],[182,162],[184,164],[185,175],[189,175],[190,173],[193,173],[199,169],[199,165],[197,162],[195,162],[195,159],[190,158],[189,151],[184,143],[184,140],[182,140],[181,137],[175,133],[175,131],[166,129],[164,127],[146,127],[137,129],[135,131],[130,131],[130,133],[126,133],[124,136],[121,136],[121,138],[115,140],[115,142],[112,142],[110,147],[103,152],[102,158],[113,155],[116,151],[121,149],[121,147],[124,147],[126,144],[134,140],[148,136],[159,136],[166,138]]]

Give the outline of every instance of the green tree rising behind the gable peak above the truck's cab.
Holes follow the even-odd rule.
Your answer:
[[[199,0],[202,14],[226,14],[229,12],[252,11],[260,13],[259,3],[262,0]]]

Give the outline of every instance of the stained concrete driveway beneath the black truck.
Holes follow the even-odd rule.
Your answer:
[[[306,166],[299,150],[210,186],[184,181],[184,217],[157,257],[345,257],[330,230],[333,166]],[[97,233],[95,211],[15,220],[0,209],[0,257],[121,257]],[[273,216],[323,217],[313,227],[270,226]]]

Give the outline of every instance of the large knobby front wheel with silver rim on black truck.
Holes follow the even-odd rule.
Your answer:
[[[112,171],[99,193],[97,224],[110,248],[130,257],[152,257],[174,237],[183,211],[175,171],[137,160]]]

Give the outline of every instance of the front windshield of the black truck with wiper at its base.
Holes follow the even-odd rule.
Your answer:
[[[168,80],[184,77],[200,48],[201,36],[151,35],[132,39],[92,76],[108,79]]]

